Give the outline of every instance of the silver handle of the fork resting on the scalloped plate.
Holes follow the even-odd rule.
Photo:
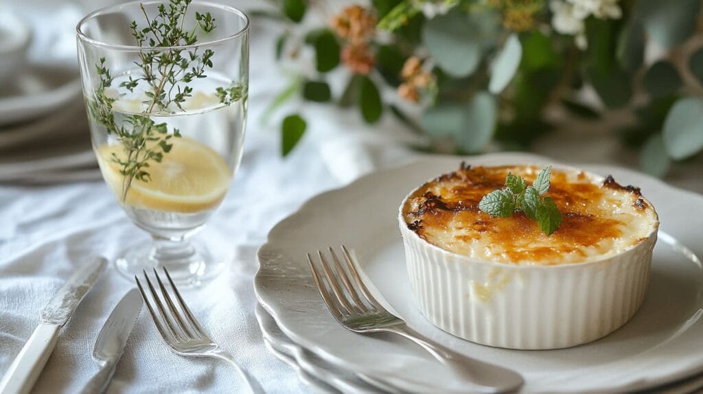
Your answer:
[[[407,324],[386,327],[386,331],[404,336],[427,350],[443,365],[474,384],[477,391],[485,393],[502,393],[517,390],[524,383],[522,376],[511,369],[489,364],[475,358],[467,357],[427,339]]]

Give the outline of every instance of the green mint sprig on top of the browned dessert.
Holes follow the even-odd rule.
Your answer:
[[[552,166],[544,167],[531,186],[521,176],[508,173],[505,188],[485,195],[479,202],[479,209],[494,218],[509,218],[523,211],[528,218],[537,221],[546,235],[552,235],[562,224],[562,214],[551,197],[542,197],[549,190],[551,169]]]

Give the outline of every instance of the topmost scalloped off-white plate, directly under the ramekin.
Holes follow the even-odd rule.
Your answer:
[[[553,164],[534,155],[470,157],[469,164]],[[461,353],[523,374],[524,392],[641,390],[703,371],[703,197],[612,166],[579,166],[638,185],[662,222],[650,289],[640,311],[613,334],[563,350],[507,350],[458,339],[432,326],[413,303],[396,223],[416,185],[458,167],[456,157],[426,157],[323,193],[276,225],[259,250],[254,288],[280,329],[299,345],[373,381],[414,393],[460,393],[463,383],[429,355],[394,336],[354,334],[333,319],[312,282],[305,254],[329,245],[355,249],[366,275],[411,326]],[[690,249],[687,249],[690,248]]]

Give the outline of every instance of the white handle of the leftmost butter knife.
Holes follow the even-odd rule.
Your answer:
[[[0,394],[25,394],[32,390],[34,382],[56,346],[60,328],[56,324],[41,323],[34,329],[32,336],[0,381]]]

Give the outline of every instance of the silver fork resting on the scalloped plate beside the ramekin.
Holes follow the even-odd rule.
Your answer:
[[[524,380],[520,374],[489,364],[480,360],[466,357],[460,353],[445,348],[439,343],[426,339],[415,330],[408,327],[400,317],[389,313],[370,294],[363,283],[356,266],[356,258],[342,245],[344,265],[337,258],[334,249],[328,248],[334,265],[321,251],[317,251],[320,263],[316,264],[307,254],[308,263],[323,300],[330,313],[345,328],[359,332],[387,331],[399,334],[417,343],[443,365],[451,367],[472,386],[467,390],[481,393],[503,393],[517,390]],[[321,265],[322,269],[318,268]]]

